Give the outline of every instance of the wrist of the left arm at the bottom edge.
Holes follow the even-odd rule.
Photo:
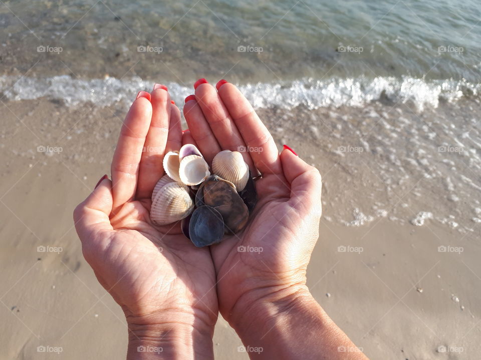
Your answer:
[[[127,316],[127,360],[213,358],[213,326],[176,311],[152,317]]]

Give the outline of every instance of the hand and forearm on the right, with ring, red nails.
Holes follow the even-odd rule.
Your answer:
[[[220,313],[247,351],[263,349],[251,357],[365,359],[359,350],[339,353],[339,345],[357,348],[306,286],[319,235],[319,171],[287,146],[279,154],[272,135],[233,84],[220,81],[217,88],[202,83],[195,98],[188,98],[189,136],[207,160],[220,150],[247,149],[245,161],[252,173],[262,175],[255,181],[258,203],[246,228],[211,246]]]

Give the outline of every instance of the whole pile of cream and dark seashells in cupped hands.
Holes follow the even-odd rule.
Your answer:
[[[165,175],[152,191],[150,219],[156,225],[181,221],[182,232],[195,246],[222,240],[242,230],[257,202],[249,166],[238,151],[220,151],[212,160],[212,175],[192,144],[167,152]]]

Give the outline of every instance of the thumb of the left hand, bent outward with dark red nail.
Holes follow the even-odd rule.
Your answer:
[[[98,231],[113,229],[109,219],[112,203],[112,181],[104,176],[74,210],[75,228],[82,243],[92,239]]]

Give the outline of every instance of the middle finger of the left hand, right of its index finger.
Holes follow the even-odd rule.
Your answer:
[[[155,184],[163,174],[162,159],[169,132],[171,104],[167,87],[155,84],[150,96],[152,120],[140,159],[137,198],[150,197]]]

